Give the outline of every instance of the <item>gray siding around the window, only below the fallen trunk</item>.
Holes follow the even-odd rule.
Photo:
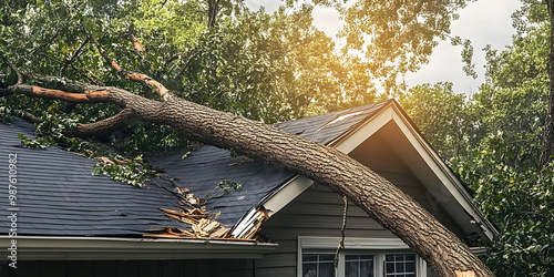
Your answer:
[[[279,246],[275,253],[256,260],[256,276],[296,276],[298,237],[340,237],[342,211],[342,197],[320,184],[315,184],[300,194],[263,225],[260,234]],[[346,236],[396,237],[351,203]]]

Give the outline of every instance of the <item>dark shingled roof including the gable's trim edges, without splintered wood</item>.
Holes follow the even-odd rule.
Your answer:
[[[383,114],[383,111],[390,109],[396,112]],[[407,127],[411,127],[412,131],[402,132],[411,132],[420,137],[421,142],[416,143],[427,145],[425,151],[431,153],[431,156],[435,155],[393,100],[283,122],[274,126],[348,153],[346,148],[351,146],[345,142],[357,135],[361,137],[355,140],[358,143],[366,140],[370,132],[360,130],[367,127],[368,122],[377,122],[382,117],[386,119],[383,121],[386,124],[394,116],[406,117]],[[147,229],[183,227],[183,223],[165,216],[160,211],[161,207],[174,211],[183,208],[178,204],[182,196],[173,193],[174,187],[168,186],[168,183],[187,188],[203,199],[206,208],[213,215],[218,215],[217,222],[228,227],[240,224],[253,225],[257,216],[256,211],[263,205],[269,205],[271,198],[279,198],[275,196],[286,192],[287,186],[300,184],[300,189],[297,189],[297,193],[300,193],[310,184],[294,172],[244,156],[233,156],[227,150],[205,145],[186,158],[183,158],[185,150],[173,154],[148,155],[145,160],[155,166],[164,167],[170,177],[154,179],[155,184],[150,188],[133,187],[106,176],[91,175],[91,166],[95,161],[84,156],[57,147],[47,150],[22,147],[17,134],[32,136],[33,133],[32,124],[22,120],[16,120],[12,124],[0,123],[0,130],[2,130],[0,156],[18,154],[18,207],[20,208],[18,234],[20,235],[129,237],[141,236]],[[440,171],[443,171],[448,178],[458,179],[438,156],[432,156],[431,160],[432,163],[441,163]],[[422,163],[416,161],[413,164],[419,166]],[[8,160],[4,158],[0,161],[0,179],[3,183],[8,182],[7,168]],[[238,183],[242,187],[224,193],[217,188],[224,181]],[[438,178],[430,179],[429,183],[437,185],[443,183],[435,181]],[[475,214],[473,211],[475,208],[471,205],[471,199],[466,199],[466,191],[460,185],[461,182],[459,179],[445,182],[455,183],[452,189],[461,191],[452,194],[460,193],[461,196],[456,199],[464,202],[465,205],[460,208],[472,214],[471,216],[478,222],[482,222],[479,213]],[[298,195],[297,193],[290,195]],[[275,201],[273,203],[275,204]],[[279,207],[283,203],[271,205]],[[8,204],[7,191],[0,192],[1,208],[7,211]],[[460,208],[454,212],[462,214]],[[278,208],[273,212],[276,211]],[[0,227],[3,229],[1,233],[7,232],[8,220],[0,220]]]

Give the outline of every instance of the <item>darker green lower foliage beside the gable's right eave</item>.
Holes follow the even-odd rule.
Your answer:
[[[554,274],[554,163],[545,168],[507,165],[513,156],[503,137],[490,137],[489,147],[475,154],[459,174],[472,184],[475,201],[500,234],[486,257],[499,276],[552,276]],[[524,152],[538,152],[533,145]],[[529,157],[535,158],[538,153]],[[524,163],[531,164],[531,163]]]

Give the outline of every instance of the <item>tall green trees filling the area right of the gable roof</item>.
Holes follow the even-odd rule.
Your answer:
[[[401,100],[496,223],[500,234],[488,265],[500,276],[552,276],[553,164],[538,163],[551,86],[551,24],[540,1],[525,1],[513,18],[513,44],[501,52],[485,49],[486,82],[473,98],[435,84],[413,88]]]

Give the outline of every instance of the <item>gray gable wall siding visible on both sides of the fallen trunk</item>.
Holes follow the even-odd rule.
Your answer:
[[[411,195],[456,235],[464,235],[386,141],[368,140],[350,155]],[[298,237],[339,237],[342,211],[342,197],[320,184],[300,194],[261,226],[260,234],[278,243],[279,247],[274,254],[256,260],[256,276],[296,276]],[[346,236],[396,237],[352,204],[348,209]]]

